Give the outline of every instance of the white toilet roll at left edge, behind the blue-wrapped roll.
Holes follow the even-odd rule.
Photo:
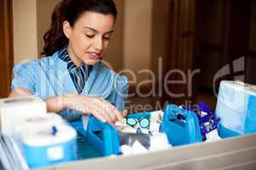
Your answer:
[[[26,118],[46,115],[45,102],[36,96],[0,99],[0,130],[5,135],[14,135],[15,129]]]

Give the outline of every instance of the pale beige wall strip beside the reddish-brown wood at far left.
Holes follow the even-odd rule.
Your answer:
[[[13,0],[14,63],[37,58],[37,1]]]

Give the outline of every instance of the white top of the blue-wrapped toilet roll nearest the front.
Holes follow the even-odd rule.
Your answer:
[[[17,132],[22,143],[30,146],[60,144],[77,137],[77,131],[53,113],[28,118],[22,125]]]

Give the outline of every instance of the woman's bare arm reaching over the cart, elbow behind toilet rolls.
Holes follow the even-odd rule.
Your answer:
[[[14,88],[9,97],[32,95],[26,88]],[[84,115],[92,114],[101,122],[114,123],[123,121],[122,114],[117,108],[102,98],[84,96],[80,94],[65,94],[44,99],[48,112],[58,113],[65,109],[79,111]]]

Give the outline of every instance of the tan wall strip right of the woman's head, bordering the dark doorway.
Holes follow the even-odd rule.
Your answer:
[[[123,66],[137,73],[137,82],[149,77],[138,71],[151,67],[152,1],[124,3]]]

